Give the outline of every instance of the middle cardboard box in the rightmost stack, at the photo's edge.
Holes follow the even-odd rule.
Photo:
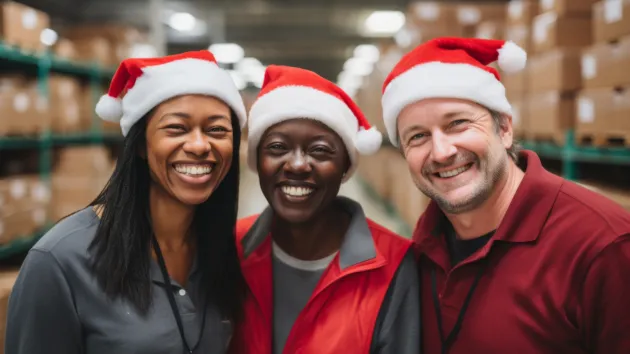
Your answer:
[[[584,49],[581,66],[586,88],[630,85],[630,36]]]

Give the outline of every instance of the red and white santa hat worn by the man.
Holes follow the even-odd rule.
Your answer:
[[[396,64],[383,84],[383,120],[392,144],[398,145],[397,119],[409,104],[426,98],[460,98],[512,114],[497,61],[505,72],[525,67],[527,53],[509,41],[436,38],[419,45]]]

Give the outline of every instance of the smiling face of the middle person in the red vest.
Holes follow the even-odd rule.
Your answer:
[[[258,175],[265,198],[280,218],[312,221],[337,197],[349,157],[325,125],[292,119],[269,128],[258,146]]]

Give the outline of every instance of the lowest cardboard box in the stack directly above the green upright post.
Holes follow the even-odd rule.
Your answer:
[[[527,134],[562,139],[575,122],[575,93],[548,91],[528,94]]]

